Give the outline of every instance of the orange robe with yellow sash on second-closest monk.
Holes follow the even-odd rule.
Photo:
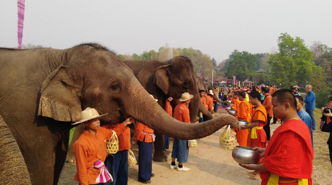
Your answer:
[[[266,109],[263,105],[257,106],[255,109],[253,109],[253,113],[251,116],[251,123],[255,121],[260,121],[258,124],[258,127],[263,127],[267,123],[267,114]],[[248,147],[261,147],[266,148],[266,133],[263,128],[261,129],[255,129],[257,138],[253,139],[251,138],[251,132],[252,129],[249,131],[248,134],[248,140],[247,140],[247,146]]]

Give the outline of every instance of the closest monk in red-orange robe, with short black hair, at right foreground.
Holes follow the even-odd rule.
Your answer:
[[[259,164],[239,164],[260,171],[262,185],[312,184],[313,150],[309,128],[296,112],[296,100],[290,90],[273,93],[273,112],[284,120],[273,133],[266,148],[255,147],[261,157]]]

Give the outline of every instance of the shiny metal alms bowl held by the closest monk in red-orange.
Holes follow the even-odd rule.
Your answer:
[[[257,164],[260,160],[258,150],[246,146],[234,147],[232,157],[239,164]]]

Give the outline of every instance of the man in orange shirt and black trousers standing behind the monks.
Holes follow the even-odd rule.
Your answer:
[[[271,138],[271,131],[270,131],[270,122],[271,122],[271,118],[273,116],[273,106],[272,106],[272,96],[270,94],[270,89],[267,87],[262,88],[262,93],[265,96],[264,100],[263,100],[263,106],[266,109],[266,113],[267,113],[267,123],[266,125],[263,127],[265,133],[266,133],[266,139],[269,141]]]

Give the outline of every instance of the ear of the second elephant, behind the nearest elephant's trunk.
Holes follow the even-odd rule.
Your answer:
[[[154,76],[154,83],[165,93],[168,94],[170,88],[171,65],[159,66]]]

